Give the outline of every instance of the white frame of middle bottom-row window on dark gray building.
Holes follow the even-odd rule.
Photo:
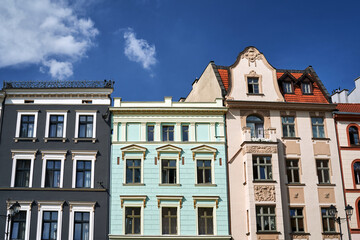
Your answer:
[[[63,202],[61,202],[61,201],[56,201],[56,202],[38,201],[38,208],[39,209],[38,209],[38,222],[37,222],[36,240],[41,240],[42,225],[43,225],[43,212],[44,211],[58,212],[56,239],[61,239]]]

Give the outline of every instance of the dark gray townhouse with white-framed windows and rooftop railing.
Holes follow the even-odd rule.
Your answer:
[[[107,239],[111,81],[4,82],[0,239]],[[10,215],[9,215],[10,216]]]

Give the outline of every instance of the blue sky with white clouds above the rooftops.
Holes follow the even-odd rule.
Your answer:
[[[30,3],[31,2],[31,3]],[[0,80],[115,80],[125,101],[185,97],[209,61],[257,47],[312,65],[328,91],[360,76],[360,1],[2,0]]]

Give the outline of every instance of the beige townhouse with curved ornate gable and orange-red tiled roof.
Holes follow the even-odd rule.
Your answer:
[[[222,97],[231,235],[235,240],[340,239],[345,216],[332,111],[311,66],[275,69],[255,47],[231,66],[210,62],[186,102]],[[348,239],[347,223],[342,225]]]

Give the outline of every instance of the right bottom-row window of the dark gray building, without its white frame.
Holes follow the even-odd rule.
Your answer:
[[[90,213],[75,212],[73,240],[89,240]]]

